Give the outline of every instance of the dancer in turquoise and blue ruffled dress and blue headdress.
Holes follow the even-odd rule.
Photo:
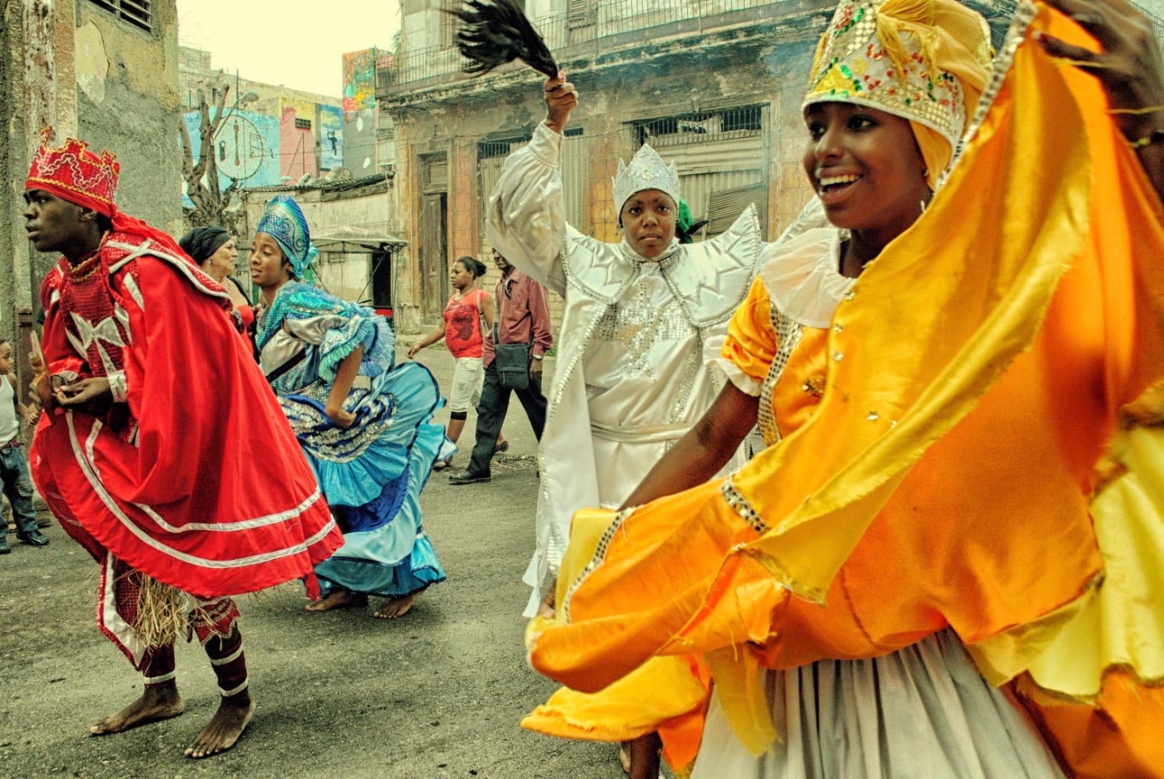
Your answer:
[[[315,254],[298,204],[274,198],[249,260],[262,290],[256,344],[343,530],[343,546],[315,567],[322,597],[307,610],[379,595],[389,601],[376,616],[398,617],[445,580],[419,503],[445,440],[432,423],[442,401],[424,366],[393,367],[396,335],[383,317],[299,281]]]

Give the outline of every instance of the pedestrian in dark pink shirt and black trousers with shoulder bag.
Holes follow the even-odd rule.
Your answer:
[[[549,333],[549,302],[546,289],[494,252],[494,263],[502,271],[497,281],[496,300],[497,316],[494,318],[494,333],[487,334],[481,348],[485,364],[485,381],[481,388],[481,403],[477,405],[477,441],[469,458],[469,466],[449,475],[450,484],[475,484],[490,481],[489,461],[497,446],[505,413],[509,411],[510,392],[517,392],[517,398],[525,408],[533,434],[541,440],[541,431],[546,426],[546,396],[541,391],[541,363],[546,350],[554,344]],[[530,384],[525,389],[509,389],[502,385],[501,374],[496,364],[497,344],[530,345]]]

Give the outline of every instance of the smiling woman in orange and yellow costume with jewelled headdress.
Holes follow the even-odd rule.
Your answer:
[[[1164,64],[1122,0],[1056,5],[987,78],[968,9],[842,2],[732,387],[652,502],[575,516],[532,661],[704,658],[697,778],[1164,770]]]

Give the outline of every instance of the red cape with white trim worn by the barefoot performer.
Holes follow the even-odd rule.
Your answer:
[[[100,375],[70,339],[64,263],[41,290],[45,357],[52,373]],[[50,508],[95,558],[112,552],[199,597],[303,576],[314,589],[313,566],[342,536],[226,292],[142,235],[111,235],[101,265],[114,317],[90,324],[120,350],[132,419],[119,424],[125,409],[44,415],[30,460]]]

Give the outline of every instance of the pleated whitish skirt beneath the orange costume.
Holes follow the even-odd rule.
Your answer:
[[[1063,772],[953,631],[868,660],[765,677],[776,732],[754,757],[711,702],[691,779],[1023,779]]]

